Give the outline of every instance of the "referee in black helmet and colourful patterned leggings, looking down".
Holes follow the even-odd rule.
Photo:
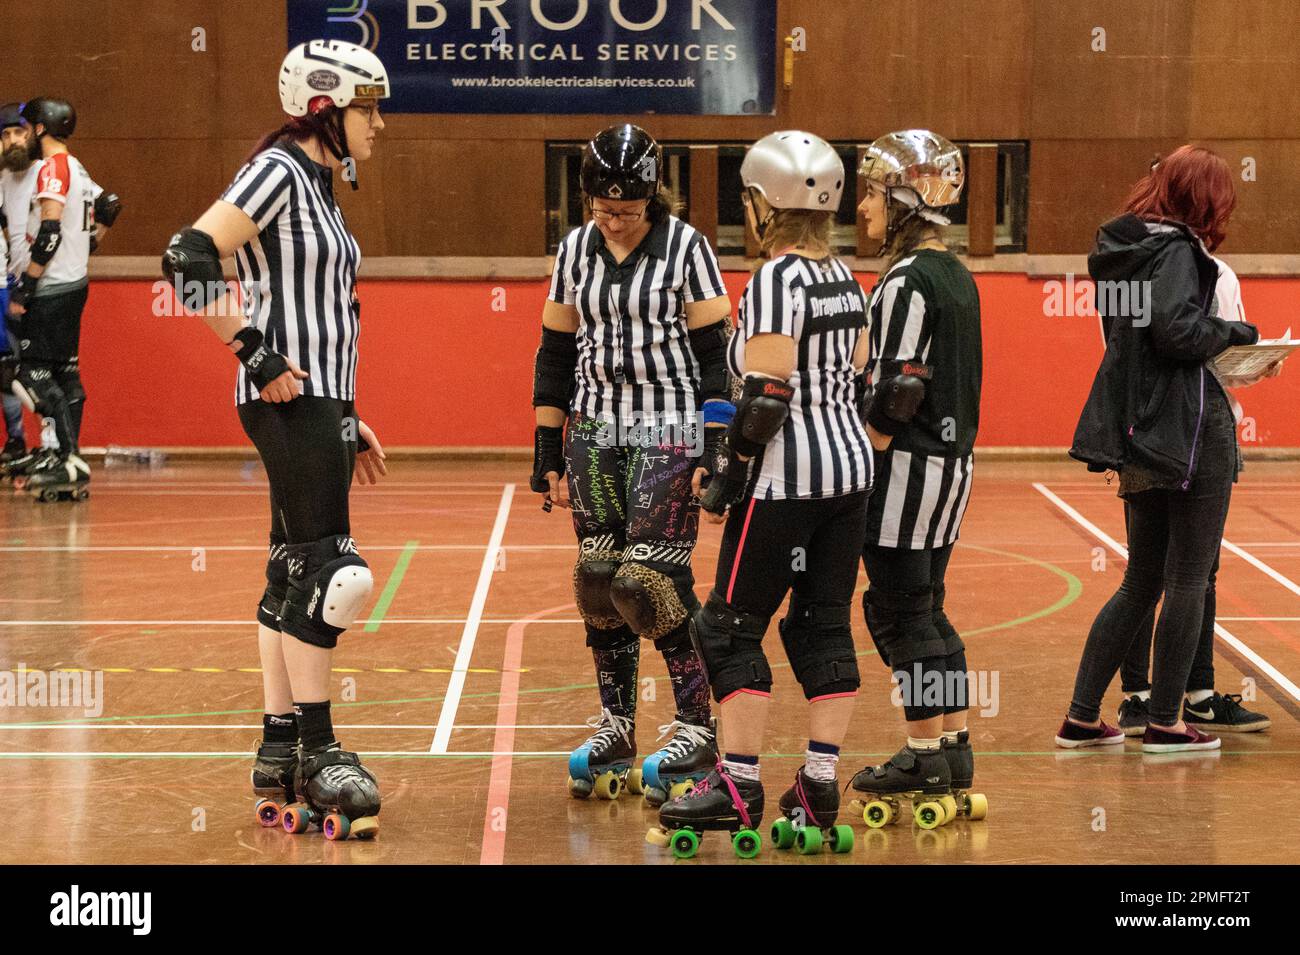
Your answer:
[[[677,708],[660,728],[668,742],[644,764],[653,803],[715,760],[708,683],[686,621],[698,605],[694,495],[724,430],[707,422],[728,404],[731,329],[718,260],[672,214],[662,166],[658,143],[632,125],[603,130],[584,151],[592,221],[560,242],[542,313],[532,477],[547,508],[572,507],[575,596],[601,693],[595,733],[569,759],[569,790],[614,796],[629,774],[636,789],[647,639],[664,656]]]

